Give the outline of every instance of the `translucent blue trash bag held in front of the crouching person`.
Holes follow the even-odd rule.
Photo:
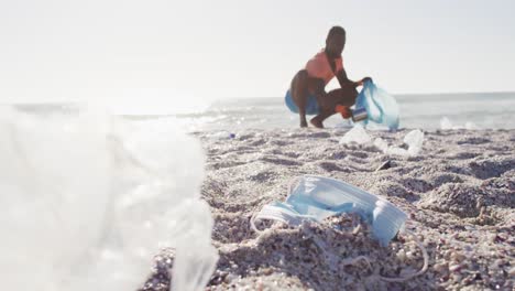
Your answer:
[[[398,128],[398,105],[394,97],[375,86],[372,80],[365,80],[363,89],[358,95],[355,108],[365,108],[368,118],[361,122],[370,121],[386,126],[390,130]]]

